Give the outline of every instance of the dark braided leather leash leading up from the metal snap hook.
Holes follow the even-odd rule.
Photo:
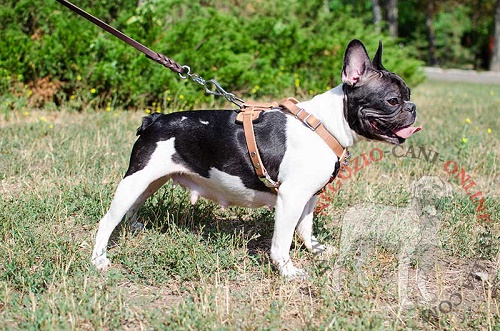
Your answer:
[[[122,33],[121,31],[118,31],[117,29],[106,24],[105,22],[101,21],[97,17],[90,15],[85,10],[75,6],[71,2],[66,1],[66,0],[56,0],[56,1],[59,2],[61,5],[71,9],[73,12],[82,16],[83,18],[87,19],[88,21],[94,23],[95,25],[97,25],[101,29],[111,33],[113,36],[117,37],[118,39],[126,42],[127,44],[134,47],[138,51],[146,54],[146,56],[148,58],[150,58],[151,60],[156,61],[159,64],[165,66],[166,68],[168,68],[174,72],[177,72],[179,74],[184,73],[185,68],[182,65],[180,65],[179,63],[175,62],[174,60],[166,57],[165,55],[163,55],[161,53],[157,53],[155,51],[152,51],[151,49],[147,48],[143,44],[135,41],[134,39],[127,36],[126,34]]]

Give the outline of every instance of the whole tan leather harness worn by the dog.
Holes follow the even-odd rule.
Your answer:
[[[346,164],[346,159],[349,158],[349,152],[347,148],[342,147],[337,139],[326,129],[323,123],[313,114],[305,111],[304,108],[300,108],[297,106],[299,101],[295,98],[287,98],[282,100],[280,103],[272,102],[272,103],[253,103],[246,102],[244,103],[238,115],[236,115],[236,122],[243,123],[243,131],[245,132],[245,140],[248,148],[248,154],[250,155],[250,160],[255,169],[255,173],[257,177],[271,189],[271,191],[275,194],[278,193],[278,188],[280,183],[278,181],[274,181],[271,176],[269,176],[264,164],[262,163],[262,159],[260,157],[259,149],[257,147],[257,142],[255,140],[255,132],[253,130],[253,122],[259,118],[261,113],[266,110],[281,110],[287,111],[292,114],[296,119],[300,120],[305,124],[309,129],[318,134],[321,139],[330,147],[330,149],[337,155],[340,164]],[[328,183],[317,192],[320,194],[323,192],[325,187],[330,184],[335,177],[337,176],[338,167],[335,167],[335,171],[330,177]]]

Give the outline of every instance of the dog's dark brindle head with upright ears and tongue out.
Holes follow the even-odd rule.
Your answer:
[[[347,97],[344,116],[357,134],[401,144],[421,129],[411,126],[417,113],[410,89],[382,65],[382,42],[370,61],[363,43],[352,40],[344,56],[342,82]]]

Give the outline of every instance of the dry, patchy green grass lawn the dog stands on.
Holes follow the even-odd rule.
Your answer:
[[[118,229],[112,268],[97,272],[89,263],[93,236],[143,114],[19,109],[0,119],[0,328],[500,330],[500,291],[492,286],[500,269],[498,86],[427,82],[413,99],[424,129],[394,153],[381,143],[352,148],[359,160],[374,148],[386,154],[323,196],[315,230],[338,246],[348,207],[404,207],[411,181],[446,180],[453,197],[443,206],[430,282],[437,303],[461,293],[451,312],[423,314],[435,304],[419,300],[414,284],[415,307],[399,309],[397,256],[384,247],[364,268],[368,285],[348,274],[353,280],[336,292],[325,272],[333,259],[296,243],[292,258],[310,278],[285,281],[268,258],[271,211],[221,210],[207,201],[191,206],[186,192],[169,184],[141,209],[146,230]],[[436,161],[419,158],[419,146],[437,152]],[[467,192],[458,172],[445,170],[450,160],[475,190]],[[477,192],[485,198],[480,212],[469,198]],[[480,224],[480,214],[491,222]],[[488,281],[475,277],[464,288],[474,263]]]

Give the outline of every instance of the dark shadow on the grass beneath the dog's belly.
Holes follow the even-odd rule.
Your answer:
[[[122,220],[113,231],[108,248],[116,247],[128,234],[139,235],[141,231],[165,234],[177,227],[201,236],[209,244],[222,236],[238,237],[235,241],[245,242],[249,255],[267,261],[265,253],[272,240],[274,212],[268,208],[222,208],[206,199],[192,205],[189,191],[169,182],[139,209],[137,221],[138,225]]]

